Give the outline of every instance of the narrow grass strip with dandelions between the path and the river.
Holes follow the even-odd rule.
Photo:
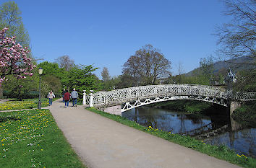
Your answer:
[[[203,141],[199,141],[195,138],[191,138],[189,136],[180,136],[178,134],[173,134],[171,132],[161,131],[158,129],[154,129],[152,127],[144,127],[139,125],[131,120],[123,118],[119,115],[111,115],[106,112],[102,112],[100,110],[96,110],[93,107],[87,108],[88,110],[95,112],[99,115],[102,115],[106,118],[111,120],[115,120],[116,122],[122,123],[129,127],[135,128],[140,131],[144,131],[146,133],[150,133],[153,136],[158,136],[160,138],[166,139],[167,141],[171,141],[177,143],[179,145],[188,147],[190,149],[194,149],[196,151],[200,151],[203,154],[208,154],[210,156],[214,156],[218,159],[226,160],[233,164],[237,164],[241,167],[256,167],[256,159],[251,157],[244,156],[242,154],[236,154],[231,149],[227,148],[226,146],[213,146]]]

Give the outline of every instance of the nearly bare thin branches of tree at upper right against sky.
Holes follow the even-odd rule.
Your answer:
[[[225,14],[233,19],[216,29],[218,44],[221,45],[220,51],[224,56],[233,58],[253,58],[254,61],[244,63],[255,65],[255,0],[225,0],[225,3]]]

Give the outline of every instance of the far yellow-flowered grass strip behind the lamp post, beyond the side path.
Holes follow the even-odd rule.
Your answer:
[[[54,98],[57,100],[59,98]],[[46,107],[48,105],[48,99],[43,98],[41,100],[41,107]],[[27,99],[22,101],[7,101],[0,103],[1,110],[20,110],[20,109],[32,109],[38,107],[38,99]]]

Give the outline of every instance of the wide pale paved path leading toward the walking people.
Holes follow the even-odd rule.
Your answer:
[[[58,100],[48,108],[64,136],[88,167],[237,167],[121,125],[82,106],[65,108],[64,103]]]

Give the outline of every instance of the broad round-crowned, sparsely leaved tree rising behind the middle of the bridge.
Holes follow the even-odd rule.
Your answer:
[[[171,62],[160,50],[152,45],[145,45],[124,63],[123,74],[132,76],[134,84],[137,81],[140,81],[140,84],[157,84],[160,79],[170,74],[170,69]]]

